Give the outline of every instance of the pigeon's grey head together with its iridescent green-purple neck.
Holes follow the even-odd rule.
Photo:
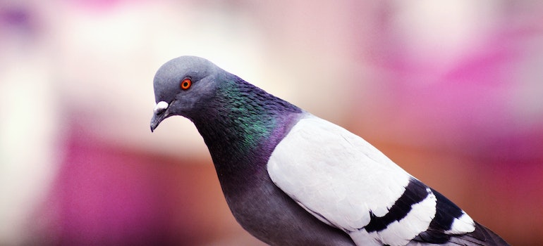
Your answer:
[[[265,170],[275,145],[303,114],[295,105],[193,56],[162,65],[154,77],[154,95],[151,130],[172,115],[190,119],[209,149],[219,180]],[[221,181],[223,186],[232,184]]]

